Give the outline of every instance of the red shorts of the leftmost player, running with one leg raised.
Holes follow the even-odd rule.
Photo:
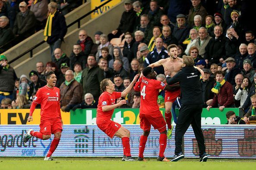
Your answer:
[[[55,134],[58,131],[62,132],[62,123],[60,118],[41,121],[39,127],[40,132],[44,135]]]

